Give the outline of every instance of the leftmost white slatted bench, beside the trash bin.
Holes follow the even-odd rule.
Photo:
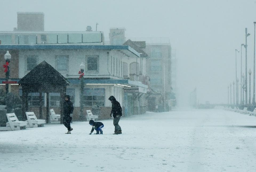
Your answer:
[[[7,113],[6,116],[8,119],[8,122],[6,122],[8,131],[26,129],[27,122],[19,121],[15,113]]]

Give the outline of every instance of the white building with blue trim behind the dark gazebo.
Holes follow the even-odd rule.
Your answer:
[[[75,106],[74,120],[79,119],[81,96],[86,109],[91,109],[93,105],[100,106],[101,119],[109,118],[111,103],[108,98],[111,95],[120,102],[124,115],[145,112],[145,94],[148,86],[139,82],[139,77],[132,77],[133,71],[141,65],[138,62],[138,59],[141,59],[140,53],[129,45],[104,45],[103,32],[94,32],[90,27],[84,32],[45,32],[43,25],[37,28],[32,20],[38,18],[41,23],[44,22],[43,13],[17,14],[18,28],[11,32],[0,31],[0,63],[5,63],[4,54],[9,50],[10,80],[19,81],[39,63],[46,61],[70,83],[67,94],[71,96]],[[31,19],[26,26],[19,24],[24,18]],[[36,24],[38,22],[36,21]],[[115,37],[120,33],[113,35]],[[84,95],[80,95],[78,79],[79,65],[82,62],[85,64]],[[5,73],[0,72],[0,77],[2,83]],[[4,86],[2,85],[2,89],[5,89]],[[14,94],[22,95],[19,85],[10,85],[9,88]],[[133,97],[127,93],[132,93]],[[37,112],[39,93],[29,93],[28,98],[30,111]],[[56,113],[59,112],[59,99],[60,93],[50,93],[49,106]],[[46,106],[45,94],[43,106]],[[46,114],[44,118],[45,116]]]

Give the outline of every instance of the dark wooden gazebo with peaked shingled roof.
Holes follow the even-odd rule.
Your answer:
[[[22,116],[26,119],[28,111],[28,93],[39,93],[39,119],[42,115],[42,93],[46,93],[46,123],[49,123],[49,93],[60,93],[60,114],[62,123],[63,102],[69,82],[51,65],[43,61],[25,75],[18,84],[22,87]]]

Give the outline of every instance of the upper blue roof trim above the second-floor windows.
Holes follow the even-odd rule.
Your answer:
[[[0,45],[0,50],[128,50],[140,54],[128,45]]]

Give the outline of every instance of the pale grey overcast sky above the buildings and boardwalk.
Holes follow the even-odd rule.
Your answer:
[[[245,43],[246,27],[251,33],[247,71],[253,71],[256,0],[0,0],[0,6],[1,31],[17,27],[17,12],[44,12],[45,31],[85,31],[87,25],[95,30],[99,23],[97,30],[105,37],[112,27],[126,28],[126,37],[169,37],[178,59],[179,104],[187,104],[195,87],[199,103],[227,103],[227,86],[235,80],[235,49]],[[244,48],[242,65],[245,72]],[[240,71],[238,53],[239,80]],[[251,80],[253,85],[253,74]]]

